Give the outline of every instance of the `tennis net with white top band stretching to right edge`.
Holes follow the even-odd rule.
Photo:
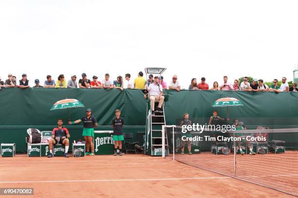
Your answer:
[[[163,132],[168,159],[298,197],[298,128],[223,133],[165,125]]]

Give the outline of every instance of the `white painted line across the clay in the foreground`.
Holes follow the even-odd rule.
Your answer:
[[[55,183],[55,182],[100,182],[100,181],[170,181],[170,180],[204,180],[204,179],[231,179],[231,177],[198,177],[198,178],[167,178],[167,179],[127,179],[127,180],[0,181],[0,183]]]

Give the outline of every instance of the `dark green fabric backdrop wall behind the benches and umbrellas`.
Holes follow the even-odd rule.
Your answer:
[[[219,98],[233,97],[242,101],[242,107],[229,108],[231,119],[238,117],[253,128],[258,125],[297,126],[298,93],[251,93],[234,91],[193,91],[168,92],[165,113],[168,125],[178,124],[184,113],[203,124],[212,115],[212,103]],[[52,130],[58,117],[67,121],[66,110],[49,111],[60,99],[74,98],[85,108],[70,109],[72,120],[85,115],[87,108],[93,109],[99,127],[97,130],[112,130],[111,120],[115,109],[120,109],[125,118],[124,132],[145,132],[146,100],[141,90],[124,91],[112,89],[25,89],[7,88],[0,91],[0,143],[15,142],[17,151],[26,148],[26,129]],[[217,108],[219,115],[226,116],[226,108]],[[67,124],[66,124],[67,125]],[[81,139],[80,124],[69,126],[72,138]]]

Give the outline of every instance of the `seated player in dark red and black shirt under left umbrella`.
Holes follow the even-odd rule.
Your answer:
[[[68,138],[70,138],[70,134],[69,134],[68,130],[62,126],[63,120],[61,118],[58,119],[57,124],[58,124],[58,127],[53,129],[53,132],[52,132],[53,139],[50,139],[50,141],[49,141],[50,154],[48,155],[48,157],[54,157],[53,145],[56,145],[57,143],[65,145],[64,157],[69,157],[67,152],[68,152],[68,148],[69,148],[69,139]]]

